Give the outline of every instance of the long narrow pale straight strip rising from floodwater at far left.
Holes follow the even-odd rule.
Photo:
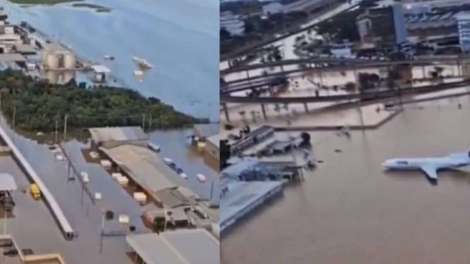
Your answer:
[[[6,133],[4,128],[1,126],[0,126],[0,137],[4,140],[6,145],[8,145],[8,148],[10,148],[13,158],[14,160],[16,160],[16,162],[18,162],[18,165],[20,166],[20,168],[25,171],[25,174],[30,178],[30,180],[32,180],[35,184],[37,184],[37,186],[39,186],[42,192],[43,200],[45,201],[47,208],[49,208],[52,215],[54,216],[54,219],[59,224],[62,234],[68,240],[73,239],[74,229],[72,229],[69,221],[66,219],[64,212],[62,212],[54,196],[52,196],[52,193],[49,191],[49,189],[47,189],[47,186],[42,182],[42,179],[40,178],[40,176],[37,175],[37,173],[35,172],[33,167],[31,167],[28,160],[26,160],[23,154],[20,152],[20,150],[16,148],[16,145],[15,143],[13,143],[13,140],[11,140],[10,136],[8,136],[8,133]]]

